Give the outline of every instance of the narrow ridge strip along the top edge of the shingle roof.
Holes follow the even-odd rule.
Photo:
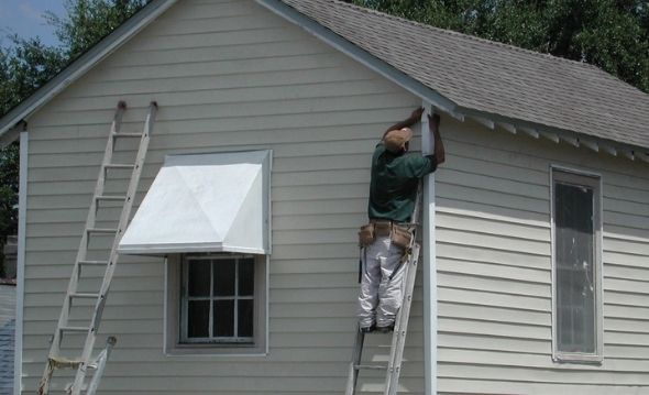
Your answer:
[[[565,58],[565,57],[556,56],[556,55],[552,55],[550,53],[542,53],[542,52],[538,52],[538,51],[527,50],[527,48],[524,48],[524,47],[520,47],[520,46],[516,46],[516,45],[513,45],[513,44],[503,43],[503,42],[499,42],[499,41],[493,41],[493,40],[483,39],[483,37],[480,37],[480,36],[476,36],[476,35],[471,35],[471,34],[466,34],[466,33],[457,32],[457,31],[450,30],[450,29],[442,29],[442,28],[433,26],[431,24],[426,24],[426,23],[413,21],[413,20],[409,20],[409,19],[406,19],[406,18],[392,15],[392,14],[388,14],[388,13],[385,13],[385,12],[382,12],[382,11],[377,11],[377,10],[374,10],[374,9],[371,9],[371,8],[361,7],[361,6],[356,6],[356,4],[352,4],[352,3],[348,3],[348,2],[341,1],[341,0],[320,0],[320,1],[330,1],[330,2],[340,4],[340,6],[343,6],[343,7],[349,7],[349,8],[355,9],[355,10],[361,11],[361,12],[373,13],[375,15],[380,15],[380,17],[383,17],[383,18],[396,20],[396,21],[399,21],[399,22],[405,22],[407,24],[416,25],[416,26],[419,26],[419,28],[422,28],[422,29],[433,30],[433,31],[437,31],[437,32],[440,32],[440,33],[443,33],[443,34],[461,36],[461,37],[465,37],[465,39],[473,40],[473,41],[476,41],[476,42],[482,42],[482,43],[485,43],[485,44],[504,47],[506,50],[514,50],[516,52],[526,53],[526,54],[538,56],[538,57],[542,57],[542,58],[546,58],[546,59],[549,58],[549,59],[552,59],[552,61],[564,62],[564,63],[569,63],[569,64],[573,64],[573,65],[579,65],[579,66],[587,67],[587,68],[595,68],[595,69],[600,70],[600,67],[597,67],[595,65],[592,65],[590,63],[586,63],[586,62],[573,61],[573,59],[569,59],[569,58]]]

